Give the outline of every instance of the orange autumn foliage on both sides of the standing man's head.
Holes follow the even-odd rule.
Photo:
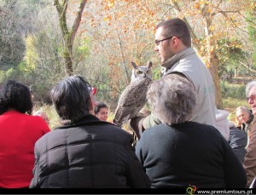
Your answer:
[[[237,26],[244,27],[243,14],[255,8],[255,4],[247,0],[89,1],[81,28],[93,27],[90,27],[90,36],[97,41],[95,47],[100,49],[98,54],[104,54],[110,68],[118,70],[112,72],[110,77],[113,84],[119,84],[119,78],[131,68],[131,60],[143,64],[149,60],[145,56],[154,57],[154,26],[160,20],[172,17],[187,20],[192,31],[193,47],[203,56],[209,68],[215,66],[215,70],[218,69],[218,65],[216,67],[212,63],[218,49],[217,41],[234,37]]]

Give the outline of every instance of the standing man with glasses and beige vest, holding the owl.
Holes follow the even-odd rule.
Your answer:
[[[160,22],[155,33],[154,51],[161,60],[161,74],[179,74],[193,83],[196,91],[196,106],[191,121],[215,126],[215,92],[212,76],[207,66],[191,48],[189,27],[183,20],[174,18]],[[131,119],[134,131],[160,123],[154,113],[147,118]]]

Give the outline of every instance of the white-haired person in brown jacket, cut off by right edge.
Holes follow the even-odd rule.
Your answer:
[[[246,96],[254,116],[250,129],[251,135],[248,138],[247,154],[243,163],[243,167],[247,173],[247,187],[249,187],[254,176],[256,176],[256,81],[247,83]]]

